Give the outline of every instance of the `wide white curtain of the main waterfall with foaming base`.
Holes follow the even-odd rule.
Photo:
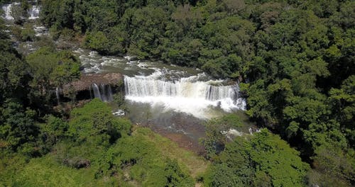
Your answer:
[[[189,113],[197,118],[209,118],[209,107],[226,112],[245,110],[244,98],[239,98],[239,86],[212,86],[216,81],[198,81],[196,77],[177,81],[158,79],[155,72],[148,77],[124,77],[126,99],[129,101],[163,105],[168,110]]]

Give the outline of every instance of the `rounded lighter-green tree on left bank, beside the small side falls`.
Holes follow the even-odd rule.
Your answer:
[[[80,78],[80,62],[72,52],[42,47],[27,57],[31,66],[31,101],[38,107],[50,104],[53,90]],[[40,100],[40,101],[38,101]]]

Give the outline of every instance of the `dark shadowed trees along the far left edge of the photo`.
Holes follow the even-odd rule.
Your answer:
[[[27,108],[30,67],[12,47],[0,21],[0,150],[35,154],[35,111]],[[4,155],[5,156],[5,155]]]

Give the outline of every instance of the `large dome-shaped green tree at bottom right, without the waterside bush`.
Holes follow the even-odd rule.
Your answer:
[[[261,130],[226,145],[207,172],[207,186],[305,186],[310,166],[277,135]]]

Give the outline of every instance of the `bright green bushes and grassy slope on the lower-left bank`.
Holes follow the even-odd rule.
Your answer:
[[[5,186],[193,186],[192,172],[207,167],[148,128],[131,131],[129,120],[115,118],[99,99],[75,108],[69,123],[51,115],[46,121],[34,147],[43,157],[1,154]]]

